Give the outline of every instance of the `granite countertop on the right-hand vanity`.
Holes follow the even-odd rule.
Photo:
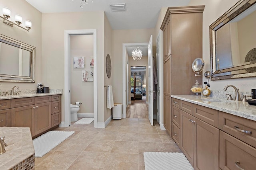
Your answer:
[[[172,95],[171,97],[256,121],[256,106],[247,102],[195,95]]]

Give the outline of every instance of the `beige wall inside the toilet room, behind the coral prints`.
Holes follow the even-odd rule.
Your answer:
[[[74,68],[74,57],[84,57],[84,68]],[[94,113],[93,82],[82,82],[82,70],[92,70],[93,35],[70,36],[70,102],[82,102],[78,113]]]

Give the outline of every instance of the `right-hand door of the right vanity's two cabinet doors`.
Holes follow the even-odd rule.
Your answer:
[[[219,168],[219,129],[200,119],[195,119],[194,132],[194,169],[217,170]]]

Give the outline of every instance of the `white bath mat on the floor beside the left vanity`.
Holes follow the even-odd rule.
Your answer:
[[[65,139],[70,137],[74,131],[48,131],[33,139],[35,157],[42,157]]]

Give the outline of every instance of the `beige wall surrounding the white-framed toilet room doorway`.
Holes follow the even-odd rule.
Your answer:
[[[52,25],[52,26],[50,26]],[[64,89],[64,31],[97,29],[97,102],[98,122],[104,122],[104,12],[42,14],[42,82],[54,89]],[[95,70],[94,70],[95,71]],[[62,121],[64,121],[62,95]]]

